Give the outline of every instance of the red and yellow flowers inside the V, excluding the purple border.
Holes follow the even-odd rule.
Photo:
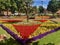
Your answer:
[[[55,24],[54,22],[49,21],[49,20],[40,20],[40,22],[43,22],[43,23],[35,24],[35,25],[30,25],[30,24],[29,25],[3,24],[3,25],[9,28],[12,32],[19,35],[19,37],[23,39],[32,38],[39,34],[46,33],[48,31],[51,31],[52,29],[59,27],[58,24]],[[53,26],[53,28],[51,26]]]

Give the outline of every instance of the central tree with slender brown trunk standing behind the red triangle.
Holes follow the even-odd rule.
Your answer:
[[[18,12],[24,12],[27,15],[27,22],[29,18],[29,13],[31,9],[31,4],[33,3],[33,0],[16,0],[16,5],[18,7]]]

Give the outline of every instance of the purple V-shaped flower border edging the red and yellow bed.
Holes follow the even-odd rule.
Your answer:
[[[35,41],[37,39],[41,39],[43,38],[44,36],[48,35],[48,34],[51,34],[53,32],[56,32],[60,29],[60,27],[54,29],[54,30],[51,30],[49,32],[46,32],[44,34],[40,34],[36,37],[33,37],[33,38],[30,38],[30,39],[22,39],[20,37],[18,37],[17,34],[15,34],[14,32],[12,32],[10,29],[8,29],[7,27],[3,26],[3,25],[0,25],[7,33],[9,33],[16,41],[20,42],[22,45],[26,44],[26,43],[31,43],[32,41]]]

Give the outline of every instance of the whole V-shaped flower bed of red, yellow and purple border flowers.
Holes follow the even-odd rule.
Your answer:
[[[41,21],[40,21],[41,22]],[[43,23],[42,23],[43,22]],[[12,35],[18,41],[23,40],[26,42],[27,40],[37,40],[41,39],[47,34],[58,31],[59,24],[56,24],[50,20],[44,20],[40,24],[3,24],[2,28],[4,28],[10,35]],[[16,34],[16,35],[15,35]],[[30,41],[31,41],[30,40]]]

